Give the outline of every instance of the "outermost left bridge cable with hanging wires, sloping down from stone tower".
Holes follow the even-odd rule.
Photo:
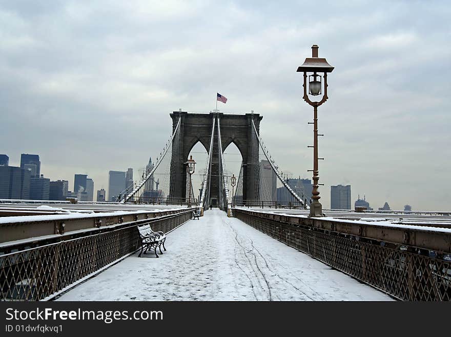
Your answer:
[[[176,169],[172,167],[170,170],[170,175],[167,174],[167,168],[163,168],[162,162],[166,158],[166,154],[170,152],[172,156],[177,155],[178,153],[178,144],[174,146],[174,143],[178,143],[177,139],[179,138],[179,130],[180,130],[180,122],[181,117],[179,117],[177,125],[172,133],[172,136],[169,138],[168,143],[165,145],[163,150],[160,153],[160,156],[157,158],[155,164],[152,164],[151,168],[146,168],[148,172],[142,177],[142,180],[137,184],[137,186],[129,193],[124,194],[124,198],[121,198],[121,203],[127,203],[130,201],[146,201],[153,203],[161,203],[163,199],[166,199],[166,203],[169,202],[169,197],[164,198],[163,195],[173,195],[171,194],[170,187],[168,188],[170,182],[170,176],[174,176],[177,174]],[[172,162],[172,161],[171,161]],[[150,162],[149,162],[150,164]],[[165,163],[166,164],[166,163]],[[161,173],[162,182],[159,181],[159,178],[156,180],[155,175],[159,175],[157,169],[164,171],[165,173]],[[165,177],[166,175],[166,177]],[[156,185],[156,189],[154,186]],[[165,193],[166,192],[166,193]]]

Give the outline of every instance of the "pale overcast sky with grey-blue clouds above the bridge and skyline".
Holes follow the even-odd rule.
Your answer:
[[[263,115],[282,170],[311,178],[296,69],[318,44],[335,67],[318,109],[323,207],[351,184],[352,203],[450,210],[449,1],[339,3],[0,1],[0,153],[107,189],[109,170],[159,154],[171,111],[209,112],[218,91],[222,111]]]

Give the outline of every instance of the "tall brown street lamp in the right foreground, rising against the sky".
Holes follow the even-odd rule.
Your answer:
[[[332,72],[334,67],[327,63],[325,58],[318,57],[318,46],[312,46],[312,57],[305,58],[302,66],[298,67],[298,72],[304,73],[304,96],[302,97],[305,102],[313,106],[313,190],[312,199],[310,204],[310,216],[321,216],[322,206],[319,203],[319,191],[318,191],[318,107],[327,100],[327,73]],[[307,74],[309,73],[309,75]],[[321,81],[321,75],[317,73],[323,73],[324,84]],[[307,75],[309,76],[309,91],[307,91]],[[309,94],[312,96],[321,95],[321,89],[324,88],[324,94],[321,101],[312,102],[309,98]],[[312,123],[309,123],[312,124]],[[322,134],[321,134],[322,135]],[[312,146],[309,146],[312,147]],[[323,159],[323,158],[321,158]]]

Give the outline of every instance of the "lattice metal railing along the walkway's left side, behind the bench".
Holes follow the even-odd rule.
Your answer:
[[[191,219],[191,211],[145,221],[154,231],[168,232]],[[139,248],[136,227],[77,237],[0,255],[0,300],[38,301],[114,264]]]

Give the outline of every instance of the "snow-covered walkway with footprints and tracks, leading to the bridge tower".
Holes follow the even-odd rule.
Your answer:
[[[218,209],[171,232],[166,247],[159,259],[136,253],[58,300],[391,300]]]

